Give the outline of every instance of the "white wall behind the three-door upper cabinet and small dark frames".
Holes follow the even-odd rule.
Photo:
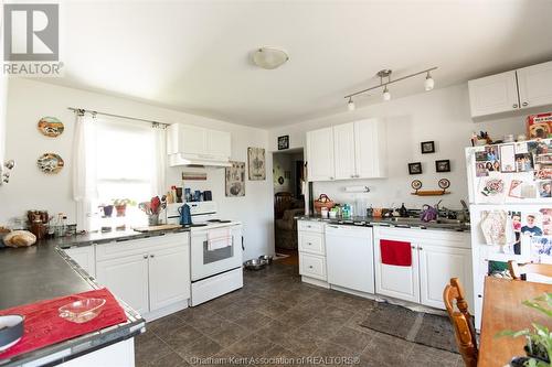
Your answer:
[[[343,110],[346,108],[343,102]],[[388,123],[389,177],[315,183],[315,196],[326,193],[335,201],[358,202],[362,206],[405,203],[408,207],[434,204],[443,198],[443,205],[459,208],[459,199],[467,199],[468,196],[464,149],[470,145],[471,132],[484,130],[492,138],[501,139],[505,133],[518,134],[524,131],[523,117],[474,123],[469,114],[467,84],[463,84],[273,129],[269,133],[269,147],[273,151],[277,150],[277,138],[285,134],[289,134],[290,149],[305,147],[306,131],[362,118],[381,118]],[[435,141],[436,152],[421,154],[420,143],[429,140]],[[443,159],[450,160],[452,172],[435,172],[435,160]],[[410,162],[422,162],[424,173],[410,175]],[[440,177],[450,180],[450,195],[411,195],[412,180],[421,180],[424,188],[438,188],[437,179]],[[368,185],[371,192],[343,192],[344,186],[359,184]]]

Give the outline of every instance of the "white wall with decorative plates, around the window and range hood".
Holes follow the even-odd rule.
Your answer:
[[[10,183],[0,186],[0,225],[10,218],[23,216],[26,209],[63,212],[75,219],[76,206],[72,199],[72,142],[74,114],[67,107],[86,108],[117,115],[139,117],[162,122],[200,125],[232,133],[232,160],[247,161],[247,147],[267,148],[267,131],[208,119],[142,102],[110,97],[79,89],[13,78],[8,89],[6,156],[17,162]],[[47,138],[36,129],[43,116],[55,116],[65,125],[57,138]],[[1,139],[0,139],[1,141]],[[55,175],[46,175],[36,168],[36,159],[45,152],[59,153],[65,168]],[[274,251],[272,154],[267,154],[265,181],[247,181],[244,197],[224,196],[224,169],[206,170],[208,181],[198,186],[212,190],[222,218],[244,224],[245,258]],[[170,168],[167,184],[181,185],[183,168]],[[193,184],[192,184],[193,187]]]

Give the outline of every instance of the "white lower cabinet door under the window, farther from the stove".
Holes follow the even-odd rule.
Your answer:
[[[98,261],[96,280],[139,313],[149,311],[148,255]]]

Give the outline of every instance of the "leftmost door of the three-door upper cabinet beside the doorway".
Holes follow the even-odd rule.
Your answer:
[[[308,181],[330,181],[335,179],[333,128],[307,132]]]

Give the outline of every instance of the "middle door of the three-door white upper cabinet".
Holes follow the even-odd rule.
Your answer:
[[[353,122],[333,127],[333,155],[336,162],[336,180],[354,179]]]

